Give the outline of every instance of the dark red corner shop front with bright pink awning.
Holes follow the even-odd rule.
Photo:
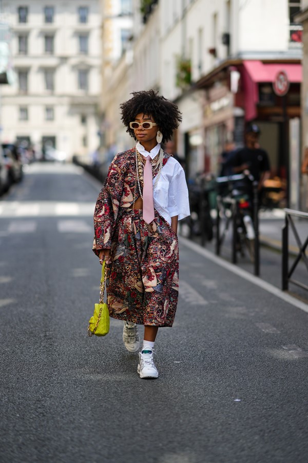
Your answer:
[[[253,121],[261,130],[259,143],[268,153],[271,176],[279,177],[285,188],[285,203],[296,202],[291,183],[298,178],[301,82],[302,66],[294,61],[233,60],[202,78],[197,85],[206,94],[208,170],[218,171],[219,155],[227,141],[243,146],[245,127]]]

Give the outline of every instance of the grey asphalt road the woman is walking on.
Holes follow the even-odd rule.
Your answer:
[[[159,379],[139,378],[117,320],[89,339],[98,192],[37,164],[0,201],[0,461],[306,463],[308,313],[185,241]]]

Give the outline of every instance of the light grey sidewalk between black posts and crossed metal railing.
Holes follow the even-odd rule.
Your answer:
[[[282,250],[282,228],[285,223],[283,209],[260,211],[259,213],[259,238],[260,243],[274,249]],[[308,220],[294,218],[297,233],[304,243],[308,236]],[[289,226],[289,250],[291,253],[298,253],[299,248],[292,228]]]

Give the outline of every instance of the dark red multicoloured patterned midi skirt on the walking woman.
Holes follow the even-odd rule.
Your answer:
[[[110,316],[140,325],[172,326],[179,294],[178,238],[155,211],[119,211],[106,280]]]

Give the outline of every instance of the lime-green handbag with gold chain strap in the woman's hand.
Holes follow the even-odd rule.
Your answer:
[[[104,261],[102,265],[100,303],[94,305],[94,313],[89,320],[88,326],[89,336],[93,336],[93,334],[96,336],[106,336],[109,333],[109,310],[106,302],[104,302],[106,274]]]

